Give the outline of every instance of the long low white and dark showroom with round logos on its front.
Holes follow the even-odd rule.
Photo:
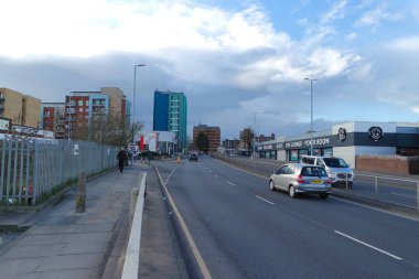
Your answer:
[[[298,161],[309,154],[310,144],[318,155],[345,159],[356,168],[357,155],[419,155],[419,124],[354,121],[334,125],[331,130],[279,137],[258,143],[261,158]]]

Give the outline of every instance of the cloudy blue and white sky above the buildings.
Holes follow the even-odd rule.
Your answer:
[[[297,136],[419,121],[417,0],[0,0],[0,87],[42,101],[119,87],[152,129],[184,92],[187,133]]]

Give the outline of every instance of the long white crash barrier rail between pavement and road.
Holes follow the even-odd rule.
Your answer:
[[[131,232],[127,246],[121,279],[138,278],[138,269],[140,267],[140,244],[141,244],[141,225],[142,211],[144,208],[144,195],[147,186],[147,173],[139,175],[139,189],[136,187],[131,192],[130,205],[130,224]]]

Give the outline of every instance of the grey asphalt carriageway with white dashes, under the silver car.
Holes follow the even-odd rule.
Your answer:
[[[213,278],[419,278],[416,219],[293,200],[208,157],[158,168]]]

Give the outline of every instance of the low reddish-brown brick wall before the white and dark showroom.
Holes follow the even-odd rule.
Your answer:
[[[356,170],[419,174],[419,157],[356,155]]]

